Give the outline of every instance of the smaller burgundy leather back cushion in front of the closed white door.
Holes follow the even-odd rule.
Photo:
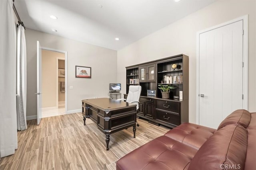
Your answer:
[[[251,121],[251,113],[244,109],[233,111],[219,125],[218,130],[226,125],[240,124],[247,128]]]

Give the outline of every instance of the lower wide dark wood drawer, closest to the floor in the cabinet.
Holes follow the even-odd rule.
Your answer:
[[[180,116],[156,110],[156,120],[165,121],[174,125],[180,125]]]

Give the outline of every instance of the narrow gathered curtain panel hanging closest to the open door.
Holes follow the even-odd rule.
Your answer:
[[[27,129],[26,96],[27,96],[27,66],[26,39],[22,25],[17,29],[17,128],[19,131]]]

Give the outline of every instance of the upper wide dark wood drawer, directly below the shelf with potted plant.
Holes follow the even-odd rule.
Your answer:
[[[180,113],[180,103],[164,100],[156,100],[156,109],[163,109]]]

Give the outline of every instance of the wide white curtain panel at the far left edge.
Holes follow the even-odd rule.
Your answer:
[[[16,26],[12,0],[0,0],[0,157],[18,148],[16,113]]]

